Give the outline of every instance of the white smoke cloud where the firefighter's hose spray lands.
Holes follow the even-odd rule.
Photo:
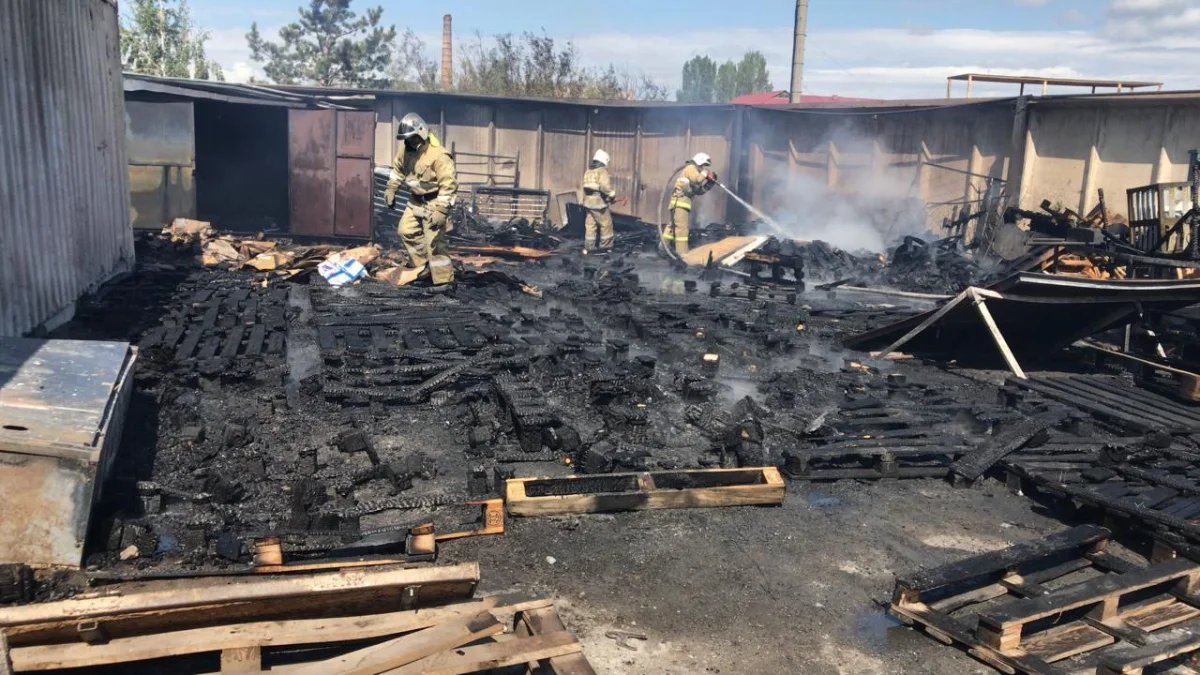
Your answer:
[[[757,205],[772,215],[782,237],[846,251],[883,252],[906,234],[925,232],[929,216],[914,183],[917,166],[875,166],[876,142],[842,126],[818,141],[812,153],[798,154],[797,171],[786,161],[764,159],[760,175],[767,178],[758,191],[763,203]],[[836,149],[832,159],[830,144]],[[760,229],[780,235],[769,225]]]

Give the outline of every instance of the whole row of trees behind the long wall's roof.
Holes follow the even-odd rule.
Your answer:
[[[383,22],[383,7],[352,8],[354,0],[307,0],[299,18],[269,40],[251,24],[251,58],[275,84],[335,88],[440,89],[439,64],[410,29]],[[163,77],[223,79],[208,58],[209,32],[196,25],[187,0],[131,0],[121,17],[125,70]],[[748,52],[740,62],[718,65],[696,56],[683,67],[679,101],[725,102],[769,90],[767,60]],[[454,90],[464,94],[553,98],[666,101],[667,89],[614,65],[587,67],[571,42],[547,35],[475,35],[458,46]]]

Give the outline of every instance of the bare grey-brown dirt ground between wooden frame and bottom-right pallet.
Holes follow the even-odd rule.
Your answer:
[[[995,482],[793,482],[778,508],[511,519],[444,560],[557,593],[600,673],[956,675],[992,670],[889,619],[894,575],[1062,527]]]

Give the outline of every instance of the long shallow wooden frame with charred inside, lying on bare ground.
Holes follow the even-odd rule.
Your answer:
[[[779,504],[785,491],[779,470],[768,466],[514,478],[506,482],[504,501],[512,515],[556,515]]]

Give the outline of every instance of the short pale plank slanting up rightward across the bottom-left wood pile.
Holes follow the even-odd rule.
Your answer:
[[[482,613],[464,621],[425,628],[335,658],[306,663],[288,673],[290,675],[328,675],[330,673],[379,675],[503,632],[504,626],[494,616]]]

